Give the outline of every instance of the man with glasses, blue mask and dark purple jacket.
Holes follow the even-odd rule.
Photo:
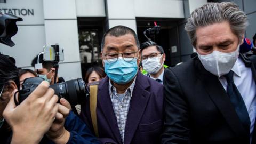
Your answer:
[[[90,101],[81,111],[102,143],[161,142],[163,85],[138,72],[139,47],[137,35],[125,26],[113,27],[103,36],[101,58],[107,77],[94,83],[98,85],[96,120]]]

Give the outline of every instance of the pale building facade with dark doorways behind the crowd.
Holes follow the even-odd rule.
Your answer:
[[[22,17],[14,47],[0,44],[0,52],[11,55],[17,66],[31,68],[31,60],[44,45],[58,43],[65,49],[65,61],[59,74],[65,79],[81,77],[92,65],[102,66],[100,43],[103,33],[124,25],[137,31],[161,26],[155,41],[164,47],[166,65],[186,62],[193,53],[184,26],[195,8],[217,0],[0,0],[0,12]],[[249,17],[246,37],[256,33],[256,1],[235,0]]]

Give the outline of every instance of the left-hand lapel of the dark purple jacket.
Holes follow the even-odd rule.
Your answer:
[[[109,95],[108,86],[109,80],[108,77],[106,77],[102,79],[102,83],[100,83],[99,85],[98,102],[103,114],[105,115],[105,119],[107,120],[111,131],[115,135],[116,140],[118,140],[118,143],[122,143],[121,135],[118,129],[117,119]]]

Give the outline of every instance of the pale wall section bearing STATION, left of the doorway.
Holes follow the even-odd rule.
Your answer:
[[[58,43],[65,49],[65,61],[60,63],[59,75],[66,80],[81,77],[76,1],[8,0],[0,4],[0,9],[5,8],[29,9],[34,15],[19,15],[17,11],[23,21],[17,22],[18,34],[12,38],[16,45],[0,44],[2,53],[14,57],[18,67],[34,69],[30,66],[31,60],[43,51],[43,46]]]

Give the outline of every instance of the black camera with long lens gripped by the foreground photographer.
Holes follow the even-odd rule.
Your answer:
[[[36,87],[43,82],[44,79],[40,77],[30,77],[26,78],[22,84],[22,90],[19,90],[19,96],[15,95],[14,101],[16,105],[19,105],[23,100],[25,100],[30,93],[32,93]],[[54,89],[56,95],[60,98],[65,98],[70,105],[81,104],[89,97],[89,90],[87,89],[82,78],[73,79],[70,81],[56,83],[50,85]],[[18,101],[17,101],[18,99]]]

